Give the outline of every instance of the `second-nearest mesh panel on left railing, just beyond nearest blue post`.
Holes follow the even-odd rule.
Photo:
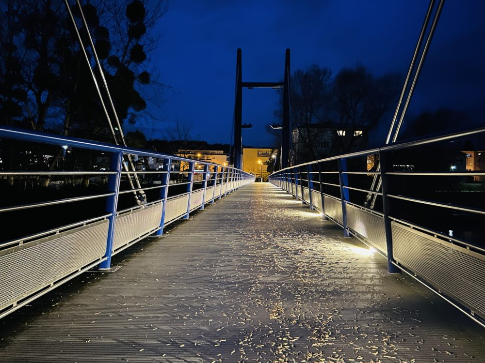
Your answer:
[[[114,222],[113,251],[160,226],[162,202],[118,214]]]

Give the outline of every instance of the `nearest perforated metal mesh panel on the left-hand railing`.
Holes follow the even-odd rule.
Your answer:
[[[103,257],[108,224],[102,220],[0,251],[0,309]]]

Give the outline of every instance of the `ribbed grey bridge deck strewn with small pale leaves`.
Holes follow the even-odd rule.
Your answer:
[[[120,255],[2,319],[0,361],[485,362],[482,327],[268,183]]]

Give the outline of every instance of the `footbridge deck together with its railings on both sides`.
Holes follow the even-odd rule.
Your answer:
[[[480,247],[404,225],[386,203],[382,213],[359,208],[346,190],[372,190],[347,177],[375,174],[348,167],[362,153],[255,183],[241,170],[204,162],[197,168],[151,151],[0,130],[5,136],[106,152],[111,166],[85,172],[107,178],[103,194],[1,207],[5,233],[28,235],[0,244],[1,362],[485,361]],[[408,146],[366,151],[380,154],[383,166],[382,192],[373,195],[394,196],[385,155]],[[161,157],[162,169],[151,172],[161,182],[125,189],[129,175],[150,175],[123,171],[126,154]],[[177,160],[187,169],[172,168]],[[334,161],[338,170],[323,169]],[[0,174],[27,180],[82,173]],[[141,190],[146,202],[126,208],[123,196],[132,203]],[[62,219],[69,222],[62,228],[31,234],[29,226],[10,227],[8,213],[56,207],[62,218],[72,212],[67,203],[96,197],[103,204],[89,206],[101,207],[101,216]]]

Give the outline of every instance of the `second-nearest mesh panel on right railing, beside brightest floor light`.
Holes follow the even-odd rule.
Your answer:
[[[347,204],[347,227],[387,254],[384,217]]]

